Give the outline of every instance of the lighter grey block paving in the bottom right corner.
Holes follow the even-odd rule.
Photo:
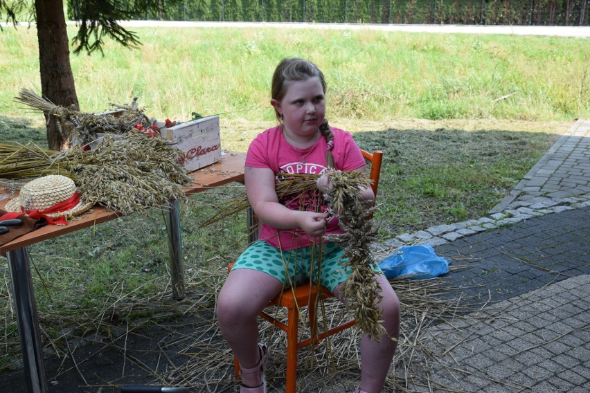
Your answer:
[[[438,325],[436,388],[414,391],[590,392],[589,293],[579,275]]]

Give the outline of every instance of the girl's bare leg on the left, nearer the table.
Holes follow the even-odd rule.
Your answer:
[[[256,316],[283,287],[275,277],[247,268],[231,271],[217,299],[217,320],[224,338],[244,368],[260,361]],[[242,384],[256,387],[259,374],[242,374]]]

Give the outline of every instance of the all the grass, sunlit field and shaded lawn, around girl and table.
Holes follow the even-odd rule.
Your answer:
[[[102,111],[138,95],[160,119],[231,112],[221,116],[222,146],[244,152],[274,125],[268,91],[276,62],[310,58],[326,73],[330,122],[352,131],[361,148],[384,151],[375,214],[384,239],[481,217],[573,118],[590,115],[590,48],[582,39],[197,28],[138,34],[141,51],[108,43],[105,57],[72,58],[82,110]],[[42,117],[12,101],[23,87],[38,89],[35,42],[33,28],[0,34],[0,140],[46,145]],[[504,95],[510,97],[494,102]],[[188,275],[243,250],[244,214],[198,226],[220,201],[242,192],[229,185],[181,206]],[[141,301],[168,291],[161,212],[131,214],[29,251],[41,326],[52,340],[71,329],[99,329],[92,321],[120,298]],[[8,369],[19,347],[6,264],[2,277],[0,369]],[[189,286],[198,287],[199,279]],[[113,314],[100,330],[137,316]]]

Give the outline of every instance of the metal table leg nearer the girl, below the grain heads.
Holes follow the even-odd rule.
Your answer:
[[[166,215],[166,229],[168,232],[168,250],[170,252],[172,298],[181,300],[184,299],[185,292],[178,201],[170,201],[170,205],[168,207],[168,214]]]

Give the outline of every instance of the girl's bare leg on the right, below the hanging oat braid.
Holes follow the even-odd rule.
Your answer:
[[[383,298],[379,302],[379,309],[382,310],[383,326],[388,336],[382,336],[379,342],[370,340],[366,335],[361,338],[361,385],[359,388],[368,393],[382,391],[397,346],[397,338],[400,336],[400,301],[384,275],[375,275],[375,280],[381,286]],[[334,291],[334,294],[337,293],[339,293],[338,289]]]

